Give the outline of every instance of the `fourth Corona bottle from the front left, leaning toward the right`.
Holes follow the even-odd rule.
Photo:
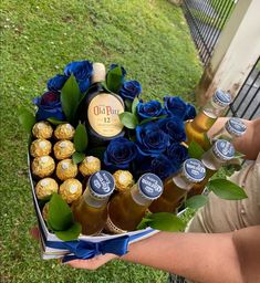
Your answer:
[[[212,147],[202,155],[201,163],[206,167],[206,177],[202,181],[195,184],[188,192],[188,198],[201,195],[208,180],[217,170],[231,160],[235,156],[235,147],[226,139],[217,139]]]

